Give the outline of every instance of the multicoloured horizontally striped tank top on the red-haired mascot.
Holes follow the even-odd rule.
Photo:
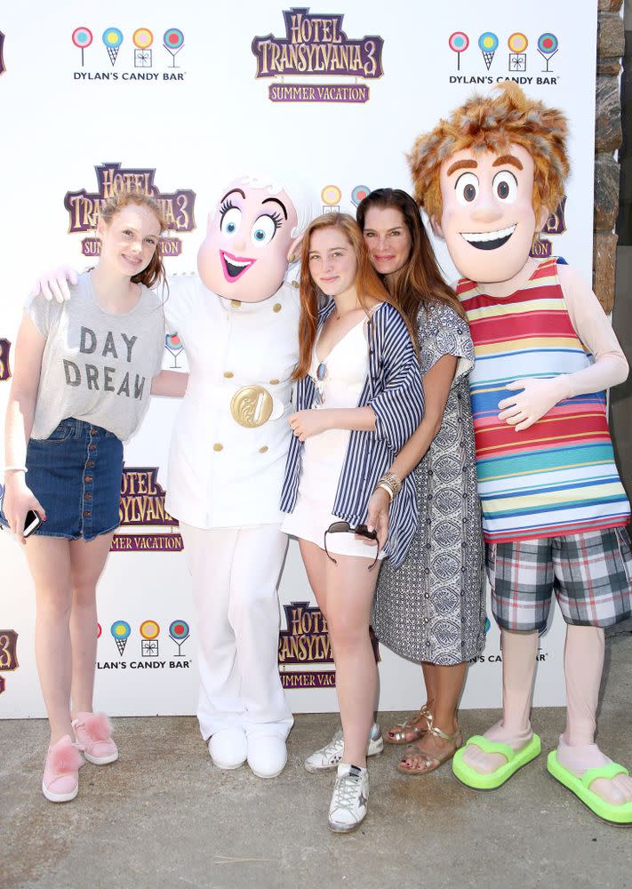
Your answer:
[[[499,402],[516,395],[509,382],[574,373],[593,362],[572,326],[556,258],[541,262],[509,297],[487,296],[465,278],[457,293],[476,355],[469,390],[485,540],[626,525],[630,509],[614,463],[604,392],[560,402],[520,432],[498,419]]]

